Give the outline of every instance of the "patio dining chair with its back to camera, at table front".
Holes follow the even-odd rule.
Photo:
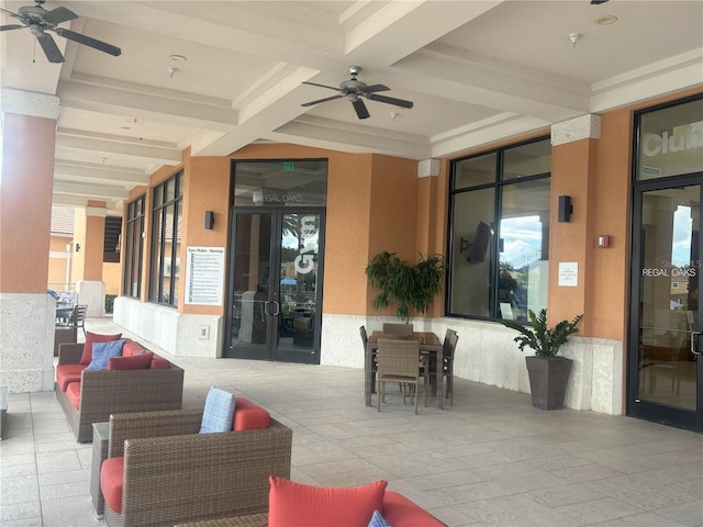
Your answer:
[[[427,405],[428,375],[425,359],[420,355],[420,344],[416,340],[391,340],[381,338],[377,351],[378,395],[376,408],[381,411],[384,401],[386,383],[399,382],[403,390],[410,390],[410,396],[415,397],[415,415],[420,397],[420,380],[424,381],[423,404]],[[413,390],[414,386],[414,390]],[[403,391],[403,403],[406,393]]]

